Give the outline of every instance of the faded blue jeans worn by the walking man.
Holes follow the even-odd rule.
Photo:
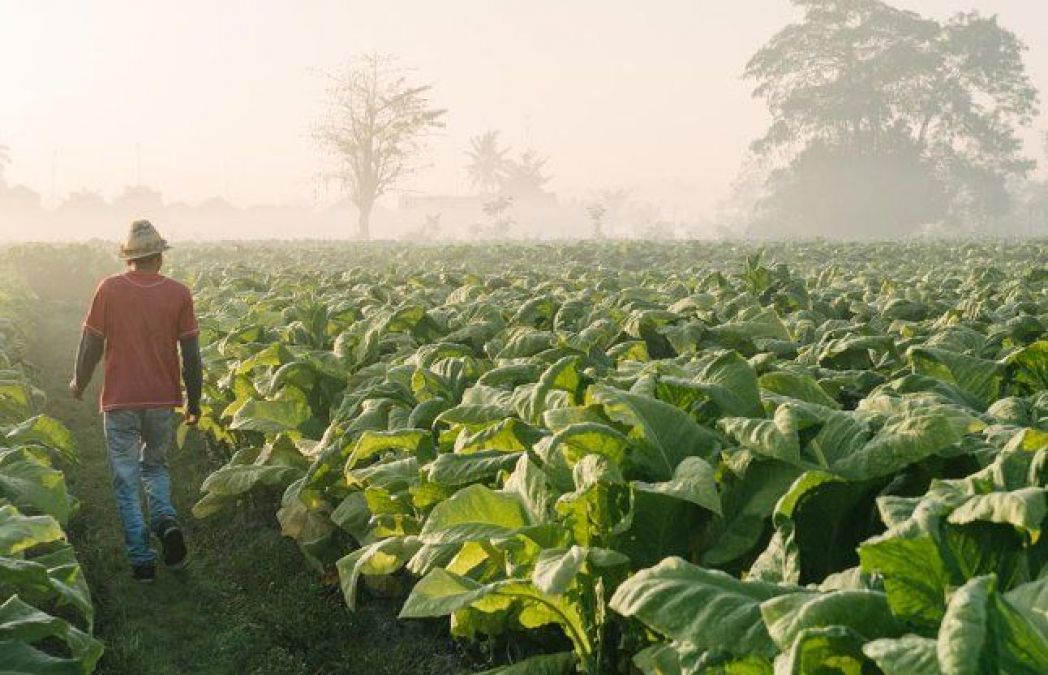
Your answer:
[[[165,458],[175,440],[175,415],[170,408],[114,410],[105,414],[109,467],[116,510],[124,524],[124,545],[132,565],[156,559],[149,546],[150,529],[175,518],[171,477]],[[146,487],[150,527],[141,513],[140,488]]]

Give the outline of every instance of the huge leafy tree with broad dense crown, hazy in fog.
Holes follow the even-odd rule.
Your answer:
[[[804,19],[745,69],[772,115],[752,146],[768,222],[882,236],[1007,210],[1007,180],[1033,166],[1016,130],[1036,113],[1014,34],[976,13],[940,23],[879,0],[793,2]]]

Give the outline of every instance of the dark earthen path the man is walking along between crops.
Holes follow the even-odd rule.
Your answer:
[[[96,412],[97,382],[84,402],[70,398],[80,302],[44,301],[32,350],[47,413],[77,438],[79,465],[67,467],[81,501],[70,525],[106,643],[99,672],[134,675],[206,673],[460,673],[465,659],[446,626],[400,623],[398,602],[369,598],[356,613],[324,587],[294,545],[280,537],[274,507],[197,521],[189,515],[215,460],[199,443],[169,460],[173,498],[193,553],[183,572],[160,569],[152,585],[132,582],[124,558]],[[96,376],[95,379],[99,379]]]

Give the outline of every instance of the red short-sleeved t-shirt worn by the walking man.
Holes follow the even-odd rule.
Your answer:
[[[84,329],[106,341],[102,410],[182,405],[178,341],[199,332],[189,288],[154,273],[107,277]]]

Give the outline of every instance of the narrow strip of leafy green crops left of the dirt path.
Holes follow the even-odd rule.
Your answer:
[[[36,414],[44,394],[24,361],[35,302],[19,275],[0,273],[0,672],[89,673],[103,646],[59,469],[77,453],[61,422]]]

